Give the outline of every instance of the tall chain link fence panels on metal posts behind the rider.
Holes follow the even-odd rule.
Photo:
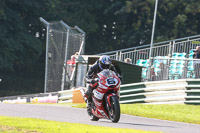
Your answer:
[[[63,21],[40,20],[47,29],[44,92],[70,89],[75,71],[75,60],[72,57],[84,54],[85,32]]]

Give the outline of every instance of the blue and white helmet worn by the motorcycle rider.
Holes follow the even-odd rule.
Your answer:
[[[112,61],[110,59],[110,56],[108,55],[103,55],[99,58],[99,67],[101,70],[103,69],[109,69]]]

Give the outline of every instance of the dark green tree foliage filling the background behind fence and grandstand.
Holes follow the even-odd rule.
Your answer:
[[[86,54],[150,43],[155,0],[0,0],[0,96],[43,92],[45,28],[87,33]],[[199,0],[159,0],[154,42],[200,33]],[[36,32],[39,37],[36,38]]]

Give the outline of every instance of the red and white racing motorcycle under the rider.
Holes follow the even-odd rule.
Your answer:
[[[92,92],[91,100],[87,103],[87,113],[92,121],[109,119],[116,123],[120,119],[119,90],[121,80],[115,72],[104,69],[97,74],[97,87]],[[84,90],[81,90],[84,96]]]

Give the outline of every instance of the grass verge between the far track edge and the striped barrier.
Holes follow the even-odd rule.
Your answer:
[[[85,108],[85,106],[85,104],[73,105],[73,107],[81,108]],[[122,114],[200,124],[199,105],[120,104],[120,107]]]

